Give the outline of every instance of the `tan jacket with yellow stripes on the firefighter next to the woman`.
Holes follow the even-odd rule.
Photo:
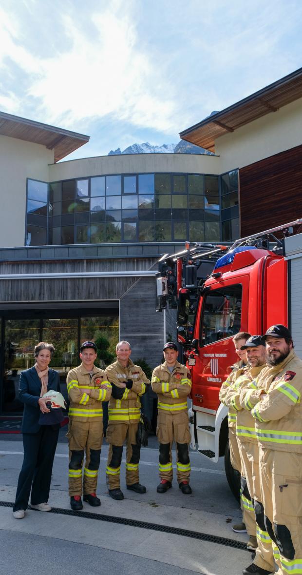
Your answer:
[[[68,371],[67,391],[70,400],[68,411],[72,421],[98,421],[103,418],[102,401],[108,401],[111,396],[111,384],[106,373],[94,365],[93,375],[86,370],[83,363]],[[105,384],[106,389],[100,389]],[[85,392],[91,390],[91,395]]]

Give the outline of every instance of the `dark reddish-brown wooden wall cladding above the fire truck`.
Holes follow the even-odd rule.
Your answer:
[[[302,145],[239,170],[241,237],[302,217]]]

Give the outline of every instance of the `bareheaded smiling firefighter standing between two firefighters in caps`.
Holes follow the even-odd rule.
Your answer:
[[[138,474],[141,446],[137,443],[136,434],[141,416],[140,397],[146,392],[146,385],[150,384],[150,380],[141,367],[131,361],[129,342],[118,342],[116,352],[117,361],[106,369],[112,385],[106,432],[106,440],[109,443],[106,477],[110,497],[122,500],[124,496],[120,488],[119,475],[125,441],[126,487],[135,493],[146,493],[145,486],[140,484]]]

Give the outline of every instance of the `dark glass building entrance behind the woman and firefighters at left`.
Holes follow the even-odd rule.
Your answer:
[[[21,415],[23,404],[18,399],[22,370],[34,365],[34,346],[48,342],[55,346],[50,367],[60,374],[60,391],[68,399],[66,376],[79,365],[80,345],[102,335],[115,350],[119,339],[118,302],[98,302],[94,308],[48,308],[0,310],[0,413]],[[68,304],[67,304],[68,305]],[[70,304],[69,304],[70,305]],[[47,306],[47,304],[45,304]]]

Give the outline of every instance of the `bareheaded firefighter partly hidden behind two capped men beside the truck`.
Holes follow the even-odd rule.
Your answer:
[[[241,346],[243,346],[247,339],[250,338],[250,333],[246,331],[241,331],[237,333],[233,338],[233,343],[235,347],[235,351],[239,357],[239,361],[234,363],[231,366],[231,373],[229,377],[227,377],[226,381],[223,382],[220,392],[219,392],[219,400],[226,405],[225,398],[230,386],[232,386],[236,378],[239,377],[244,373],[245,370],[249,369],[247,366],[246,360],[246,350],[241,350]],[[236,435],[236,417],[237,411],[235,408],[230,406],[229,413],[227,414],[227,423],[229,425],[229,445],[230,445],[230,458],[231,458],[231,465],[233,469],[235,469],[241,475],[241,458],[239,454],[239,446],[238,440]],[[249,501],[244,500],[241,496],[240,500],[241,509],[242,509],[242,522],[237,523],[232,526],[233,531],[235,533],[248,533],[250,536],[249,542],[247,543],[247,549],[254,550],[255,549],[255,535],[256,535],[256,524],[254,519],[254,513],[251,510],[251,505]],[[252,538],[252,539],[251,539]]]

